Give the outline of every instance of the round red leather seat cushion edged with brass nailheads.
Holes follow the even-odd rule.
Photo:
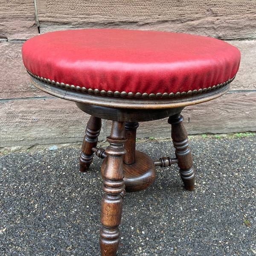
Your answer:
[[[212,90],[230,82],[240,63],[239,50],[218,39],[125,29],[49,32],[26,41],[22,56],[41,81],[129,98]]]

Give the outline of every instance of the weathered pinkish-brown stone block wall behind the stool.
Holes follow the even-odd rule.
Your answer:
[[[185,108],[184,123],[189,134],[256,131],[256,1],[2,0],[0,148],[82,140],[87,114],[73,102],[36,90],[21,59],[26,39],[77,28],[151,29],[228,41],[241,51],[241,67],[230,92]],[[107,134],[109,127],[107,122]],[[170,137],[166,119],[141,123],[137,137],[149,136]]]

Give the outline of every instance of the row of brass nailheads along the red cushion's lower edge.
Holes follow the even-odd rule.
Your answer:
[[[80,87],[78,85],[69,85],[69,84],[64,84],[63,82],[56,82],[54,80],[50,80],[50,79],[47,79],[47,78],[43,78],[42,76],[36,76],[34,74],[32,74],[29,70],[27,70],[27,72],[29,73],[30,76],[32,76],[33,78],[39,80],[39,81],[42,81],[46,84],[51,84],[55,87],[61,87],[63,89],[66,89],[66,90],[76,90],[78,92],[82,92],[82,93],[89,93],[89,94],[95,94],[95,95],[101,95],[101,96],[115,96],[115,97],[122,97],[122,98],[143,98],[143,99],[161,99],[161,98],[169,98],[169,99],[172,99],[172,98],[179,98],[179,97],[187,97],[187,96],[194,96],[194,95],[197,95],[197,94],[201,94],[201,93],[207,93],[207,92],[210,92],[210,91],[213,91],[213,90],[216,90],[216,89],[219,89],[221,87],[224,87],[226,86],[227,84],[230,84],[236,76],[234,76],[233,78],[225,81],[224,83],[221,83],[221,84],[216,84],[216,85],[213,85],[213,86],[209,86],[209,87],[204,87],[204,88],[200,88],[198,90],[189,90],[188,92],[177,92],[177,93],[140,93],[140,92],[137,92],[137,93],[132,93],[132,92],[125,92],[125,91],[122,91],[122,92],[119,92],[119,91],[114,91],[112,92],[111,90],[108,90],[108,91],[105,91],[105,90],[99,90],[99,89],[92,89],[92,88],[86,88],[86,87]]]

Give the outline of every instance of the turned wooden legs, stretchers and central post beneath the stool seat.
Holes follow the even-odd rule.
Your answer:
[[[130,122],[112,120],[111,134],[107,137],[109,146],[106,149],[97,147],[101,116],[91,116],[87,123],[80,155],[80,171],[88,171],[94,154],[104,159],[101,174],[105,193],[102,196],[102,228],[99,239],[102,256],[116,255],[125,193],[141,191],[150,186],[156,176],[155,166],[167,167],[174,163],[178,164],[185,189],[195,189],[195,171],[187,132],[182,124],[183,117],[178,108],[172,113],[168,122],[172,125],[172,142],[176,158],[167,156],[156,161],[147,154],[135,150],[139,123],[133,119]]]

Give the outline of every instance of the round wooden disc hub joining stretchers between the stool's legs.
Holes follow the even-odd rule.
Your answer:
[[[108,159],[102,163],[101,173],[104,177]],[[155,179],[156,169],[154,161],[143,152],[135,151],[135,162],[132,164],[123,163],[124,167],[124,183],[126,192],[137,192],[146,189]]]

